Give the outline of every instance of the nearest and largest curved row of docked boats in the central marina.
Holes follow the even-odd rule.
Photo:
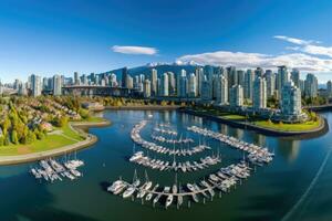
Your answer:
[[[221,197],[222,193],[229,193],[232,188],[237,185],[241,185],[242,180],[250,177],[251,170],[252,168],[250,168],[245,161],[241,161],[237,165],[220,168],[217,172],[208,175],[197,183],[186,183],[181,186],[177,185],[177,181],[175,181],[172,189],[168,186],[163,188],[158,183],[151,189],[153,183],[147,179],[139,187],[137,185],[139,183],[139,181],[137,181],[137,177],[133,179],[132,183],[118,179],[107,188],[107,191],[113,194],[121,194],[123,191],[123,198],[132,197],[132,199],[135,198],[134,193],[136,192],[136,199],[142,200],[146,194],[146,201],[153,200],[153,207],[159,202],[162,206],[164,204],[165,209],[167,209],[173,202],[176,202],[176,207],[179,209],[184,198],[187,198],[189,201],[193,200],[194,202],[199,202],[199,197],[211,200],[215,197],[216,191],[219,192],[219,197]],[[162,198],[166,199],[165,202],[160,201]]]

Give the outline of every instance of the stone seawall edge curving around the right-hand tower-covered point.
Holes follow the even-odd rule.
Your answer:
[[[241,122],[236,122],[231,119],[226,119],[222,117],[217,117],[210,114],[204,114],[204,113],[197,113],[195,110],[188,109],[188,108],[180,108],[179,112],[195,115],[195,116],[200,116],[200,117],[206,117],[208,119],[215,120],[217,123],[224,123],[232,127],[241,128],[241,129],[250,129],[253,131],[258,131],[260,134],[267,135],[267,136],[276,136],[276,137],[297,137],[297,138],[314,138],[319,137],[325,133],[329,131],[329,124],[324,117],[321,117],[321,124],[319,127],[310,130],[276,130],[276,129],[270,129],[270,128],[263,128],[257,125],[252,124],[246,124]]]

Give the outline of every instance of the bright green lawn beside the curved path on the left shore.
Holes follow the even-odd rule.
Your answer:
[[[31,152],[40,152],[45,150],[55,149],[66,145],[76,143],[75,140],[83,140],[83,138],[69,126],[63,128],[55,128],[62,130],[62,134],[48,135],[42,140],[37,140],[30,145],[13,145],[0,147],[0,156],[25,155]]]

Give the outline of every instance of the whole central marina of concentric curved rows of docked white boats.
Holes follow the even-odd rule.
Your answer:
[[[159,143],[173,144],[174,146],[172,151],[170,148],[159,146],[155,143],[147,141],[142,138],[141,131],[147,125],[147,123],[148,120],[141,120],[133,127],[131,131],[132,140],[134,141],[134,144],[137,144],[143,148],[154,150],[158,154],[173,155],[174,157],[173,161],[151,158],[149,156],[146,156],[144,151],[136,151],[129,158],[131,162],[144,166],[153,170],[174,171],[174,172],[181,172],[181,173],[195,172],[221,162],[221,156],[219,155],[219,149],[216,156],[211,155],[211,156],[201,157],[197,161],[185,160],[185,161],[177,162],[175,155],[181,152],[181,149],[177,149],[175,144],[195,143],[195,140],[191,138],[181,139],[181,137],[179,139],[174,139],[174,138],[168,139],[162,135],[157,135],[157,136],[154,134],[151,135],[153,140],[157,140]],[[155,127],[153,130],[158,131],[160,134],[170,135],[172,137],[178,134],[176,130],[173,130],[170,128],[172,125],[167,124],[167,125],[159,125],[159,127]],[[237,139],[235,137],[224,135],[221,133],[216,133],[197,126],[188,126],[187,130],[204,136],[206,138],[216,139],[220,143],[227,144],[230,147],[243,150],[245,152],[248,154],[248,156],[247,157],[243,156],[243,160],[238,164],[231,164],[227,167],[221,167],[218,171],[211,172],[200,180],[196,180],[195,182],[188,182],[184,186],[177,183],[177,173],[176,173],[175,183],[170,186],[172,188],[169,186],[165,186],[163,188],[157,183],[153,189],[151,189],[153,187],[153,183],[147,178],[145,179],[146,181],[139,187],[137,185],[139,183],[139,180],[138,178],[136,178],[136,170],[135,170],[135,176],[134,176],[135,178],[133,179],[132,183],[118,179],[107,188],[107,191],[114,194],[118,194],[123,190],[124,191],[123,198],[132,197],[132,200],[134,200],[135,198],[134,193],[136,192],[137,193],[136,198],[141,199],[142,203],[144,200],[144,196],[147,194],[146,199],[147,201],[153,200],[153,207],[155,207],[156,203],[160,202],[160,199],[164,198],[162,204],[164,204],[165,209],[169,208],[173,202],[176,202],[176,208],[179,209],[180,204],[183,204],[184,202],[184,198],[188,198],[189,199],[188,207],[190,207],[190,201],[198,203],[199,198],[204,199],[204,203],[206,202],[206,199],[212,199],[214,196],[216,194],[216,191],[219,192],[220,197],[222,193],[230,192],[232,187],[236,187],[236,185],[238,183],[241,185],[242,180],[246,180],[250,177],[250,172],[252,170],[249,166],[250,164],[253,166],[257,165],[263,166],[263,164],[271,162],[272,157],[274,156],[274,154],[270,152],[266,147],[263,148],[258,145],[249,144],[240,139]],[[201,147],[201,145],[199,144],[197,147]],[[196,147],[191,148],[191,150],[195,148]],[[207,149],[209,148],[203,146],[200,148],[200,151]],[[173,154],[170,154],[170,151]],[[190,155],[193,152],[190,152]],[[186,155],[184,156],[188,157]]]

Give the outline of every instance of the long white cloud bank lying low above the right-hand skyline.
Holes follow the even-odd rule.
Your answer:
[[[228,66],[234,65],[239,69],[276,69],[279,65],[297,67],[308,72],[330,72],[332,71],[332,60],[324,60],[303,53],[291,53],[282,55],[268,55],[260,53],[216,51],[201,54],[189,54],[177,59],[179,62],[191,62],[198,64],[211,64]]]

